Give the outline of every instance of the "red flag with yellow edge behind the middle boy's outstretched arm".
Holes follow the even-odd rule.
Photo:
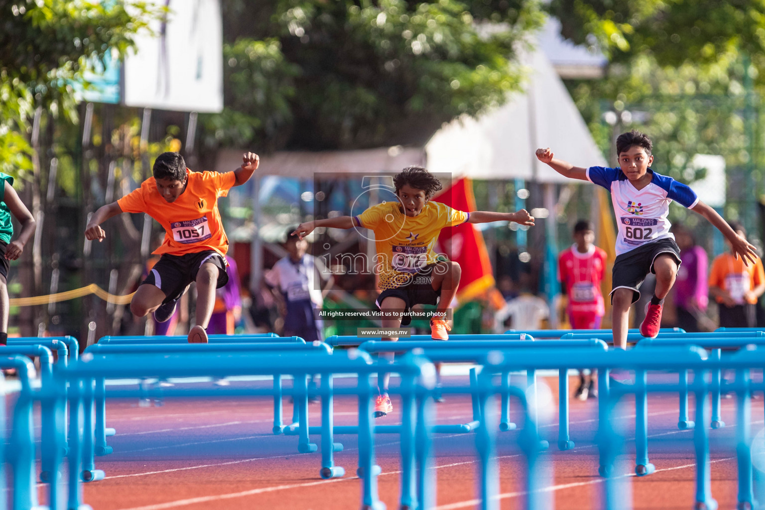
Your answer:
[[[476,210],[473,181],[463,177],[433,200],[444,203],[452,209],[470,213]],[[458,300],[465,302],[474,299],[494,286],[494,276],[486,244],[483,242],[480,231],[472,223],[463,223],[441,230],[438,244],[441,245],[441,253],[447,255],[449,260],[457,262],[462,268],[460,287],[457,290]]]

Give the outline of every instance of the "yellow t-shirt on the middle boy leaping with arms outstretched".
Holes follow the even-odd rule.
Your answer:
[[[382,290],[408,284],[413,274],[434,264],[435,242],[441,229],[465,223],[469,213],[438,202],[425,203],[422,213],[406,216],[398,202],[381,203],[354,216],[356,226],[375,232],[374,271]]]

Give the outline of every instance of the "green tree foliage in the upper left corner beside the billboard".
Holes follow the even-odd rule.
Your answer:
[[[34,110],[76,119],[71,83],[89,59],[124,53],[151,15],[144,2],[0,0],[0,171],[31,169]]]

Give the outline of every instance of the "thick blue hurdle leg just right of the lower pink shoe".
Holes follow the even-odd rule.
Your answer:
[[[415,415],[414,383],[409,375],[402,375],[401,394],[401,498],[399,510],[418,508],[417,505],[417,463],[415,456],[415,444],[417,439],[417,426]]]

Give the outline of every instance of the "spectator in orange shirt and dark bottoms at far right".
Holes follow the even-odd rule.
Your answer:
[[[746,237],[747,232],[741,223],[730,222],[730,225],[739,236]],[[712,262],[709,295],[718,302],[721,327],[756,326],[757,299],[763,292],[765,271],[761,258],[755,258],[754,264],[747,266],[731,250],[718,255]]]

